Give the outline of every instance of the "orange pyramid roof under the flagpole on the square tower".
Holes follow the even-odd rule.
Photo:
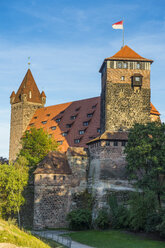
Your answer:
[[[127,45],[122,47],[115,55],[106,58],[105,60],[139,60],[153,62],[151,59],[143,58]]]

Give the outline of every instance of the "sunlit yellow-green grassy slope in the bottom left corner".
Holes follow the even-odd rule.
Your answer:
[[[34,237],[30,232],[20,230],[12,223],[0,219],[0,243],[11,243],[30,248],[62,248],[54,241]]]

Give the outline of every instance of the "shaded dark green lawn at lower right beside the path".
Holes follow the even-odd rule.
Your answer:
[[[81,231],[67,234],[77,242],[97,248],[165,248],[165,242],[121,231]]]

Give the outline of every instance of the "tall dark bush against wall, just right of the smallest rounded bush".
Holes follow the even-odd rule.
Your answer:
[[[115,195],[109,197],[110,224],[113,228],[127,228],[129,226],[129,211],[126,206],[119,204]]]

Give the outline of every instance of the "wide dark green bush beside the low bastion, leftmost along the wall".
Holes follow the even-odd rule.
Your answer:
[[[86,230],[91,228],[92,212],[89,209],[76,209],[67,215],[71,230]]]

